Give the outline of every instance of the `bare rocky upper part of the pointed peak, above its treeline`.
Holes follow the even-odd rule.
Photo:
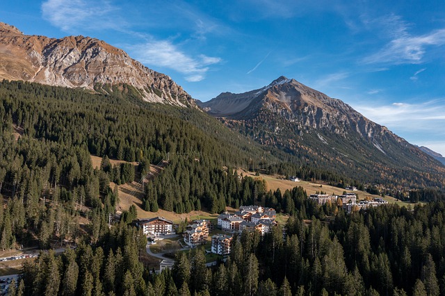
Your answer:
[[[226,120],[277,120],[298,126],[298,129],[327,129],[343,137],[351,131],[363,138],[387,133],[380,126],[366,119],[348,104],[332,99],[322,92],[280,76],[259,90],[232,94],[225,92],[215,99],[200,103],[211,115]]]

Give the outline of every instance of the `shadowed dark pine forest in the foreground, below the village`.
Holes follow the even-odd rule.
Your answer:
[[[315,208],[319,207],[314,205]],[[330,223],[302,208],[261,237],[244,231],[232,254],[205,266],[204,250],[180,252],[172,270],[138,261],[145,238],[124,222],[93,245],[24,265],[18,295],[443,295],[445,206],[381,206]]]

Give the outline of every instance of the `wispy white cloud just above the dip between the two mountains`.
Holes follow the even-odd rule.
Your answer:
[[[192,57],[178,49],[169,40],[152,40],[133,47],[136,58],[141,63],[156,67],[166,67],[185,74],[187,81],[202,81],[209,71],[209,65],[220,63],[220,58],[203,54]]]

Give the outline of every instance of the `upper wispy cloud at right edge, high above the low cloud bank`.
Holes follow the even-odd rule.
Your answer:
[[[375,27],[389,42],[375,54],[363,59],[366,64],[385,63],[390,65],[420,64],[430,46],[445,44],[445,29],[437,29],[423,35],[411,35],[410,25],[397,15],[389,15],[364,24]]]

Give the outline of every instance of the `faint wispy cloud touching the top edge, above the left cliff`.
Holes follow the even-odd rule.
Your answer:
[[[43,18],[67,32],[76,28],[117,29],[125,26],[125,22],[113,14],[118,10],[105,0],[47,0],[42,3]]]

